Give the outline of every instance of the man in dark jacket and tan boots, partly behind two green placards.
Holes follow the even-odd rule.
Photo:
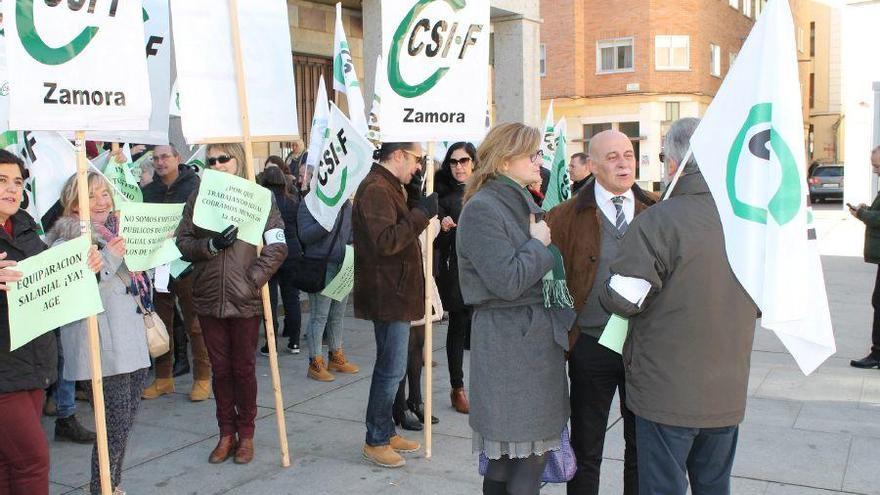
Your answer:
[[[153,150],[153,169],[155,170],[153,180],[142,189],[144,203],[186,203],[187,198],[199,185],[199,176],[191,168],[181,165],[180,153],[174,146],[156,146]],[[189,273],[184,272],[180,278],[172,278],[168,290],[167,294],[156,291],[153,302],[156,313],[171,334],[169,341],[172,348],[156,358],[156,379],[144,389],[143,397],[155,399],[174,392],[172,355],[186,360],[186,348],[174,348],[174,306],[175,302],[179,302],[183,313],[183,326],[189,335],[193,353],[193,386],[189,398],[193,402],[203,401],[211,392],[211,362],[208,360],[208,349],[202,337],[202,328],[193,310],[192,279]]]

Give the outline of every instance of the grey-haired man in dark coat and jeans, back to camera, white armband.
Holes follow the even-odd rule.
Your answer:
[[[636,416],[639,493],[730,493],[758,310],[727,261],[715,201],[681,160],[699,123],[666,135],[671,197],[630,225],[599,299],[629,318],[626,405]],[[720,164],[712,164],[721,166]],[[712,166],[708,165],[707,166]]]

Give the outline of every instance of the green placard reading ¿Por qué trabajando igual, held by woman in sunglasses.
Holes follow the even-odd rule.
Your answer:
[[[236,225],[238,238],[256,246],[262,242],[271,207],[272,193],[265,187],[225,172],[205,170],[193,223],[214,232]]]

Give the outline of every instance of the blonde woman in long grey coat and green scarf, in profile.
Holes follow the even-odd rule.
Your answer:
[[[456,238],[464,302],[473,305],[470,425],[489,459],[484,494],[534,495],[569,416],[564,351],[571,309],[545,305],[556,257],[525,187],[539,182],[541,134],[493,128],[477,151]]]

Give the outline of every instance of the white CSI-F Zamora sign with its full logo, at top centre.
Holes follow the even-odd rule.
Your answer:
[[[383,141],[483,139],[489,31],[489,0],[382,0]]]

